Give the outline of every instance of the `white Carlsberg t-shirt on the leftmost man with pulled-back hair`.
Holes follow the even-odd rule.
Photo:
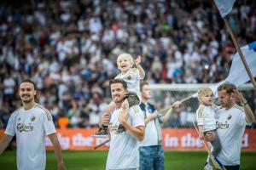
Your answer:
[[[6,134],[16,135],[19,170],[45,169],[45,136],[56,133],[52,116],[42,105],[30,110],[21,107],[9,118]]]

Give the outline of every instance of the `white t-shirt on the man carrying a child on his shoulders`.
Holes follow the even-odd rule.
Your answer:
[[[107,170],[139,167],[139,143],[130,133],[116,133],[119,127],[120,109],[115,109],[108,124],[111,140],[108,151]],[[145,126],[143,111],[138,105],[129,108],[128,122],[132,127]]]

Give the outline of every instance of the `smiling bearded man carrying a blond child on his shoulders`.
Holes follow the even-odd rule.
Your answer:
[[[108,151],[107,170],[137,169],[139,167],[139,142],[143,140],[145,122],[143,112],[138,105],[130,108],[124,104],[125,94],[128,93],[127,84],[121,79],[110,81],[113,102],[118,106],[111,116],[102,116],[100,123],[108,123],[110,146]],[[119,132],[119,125],[125,131]]]

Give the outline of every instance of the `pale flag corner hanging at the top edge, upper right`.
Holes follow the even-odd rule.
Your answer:
[[[213,0],[222,18],[230,13],[236,0]]]

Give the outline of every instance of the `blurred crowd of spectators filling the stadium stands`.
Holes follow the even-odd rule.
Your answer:
[[[241,46],[256,40],[256,3],[247,2],[238,1],[228,16]],[[56,126],[62,116],[69,127],[96,126],[123,52],[142,56],[147,82],[213,83],[227,77],[236,49],[211,1],[6,3],[0,6],[1,127],[19,108],[17,86],[27,78]],[[256,108],[256,100],[251,104]]]

